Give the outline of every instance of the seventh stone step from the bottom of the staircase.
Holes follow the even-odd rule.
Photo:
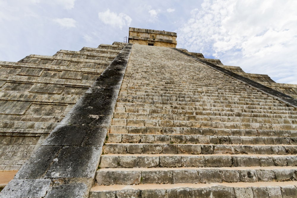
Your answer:
[[[286,121],[286,120],[283,120]],[[296,124],[260,124],[247,122],[211,122],[211,121],[181,121],[181,120],[140,120],[113,119],[112,125],[119,126],[149,126],[149,127],[188,127],[188,128],[225,128],[225,129],[268,129],[297,130]]]

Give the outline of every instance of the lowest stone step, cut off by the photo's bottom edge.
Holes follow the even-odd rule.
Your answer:
[[[297,182],[139,184],[94,186],[89,198],[293,198]]]

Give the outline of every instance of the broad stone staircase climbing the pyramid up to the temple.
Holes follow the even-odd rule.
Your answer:
[[[90,197],[297,197],[297,111],[133,45]]]

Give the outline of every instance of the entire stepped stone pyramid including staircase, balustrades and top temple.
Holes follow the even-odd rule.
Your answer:
[[[297,85],[129,28],[0,62],[0,197],[297,197]]]

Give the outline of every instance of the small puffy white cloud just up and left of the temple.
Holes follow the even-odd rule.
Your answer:
[[[105,12],[99,12],[98,16],[103,23],[113,27],[119,27],[120,29],[122,29],[123,26],[129,26],[132,21],[132,18],[128,15],[124,13],[117,14],[116,12],[110,12],[109,9]]]

